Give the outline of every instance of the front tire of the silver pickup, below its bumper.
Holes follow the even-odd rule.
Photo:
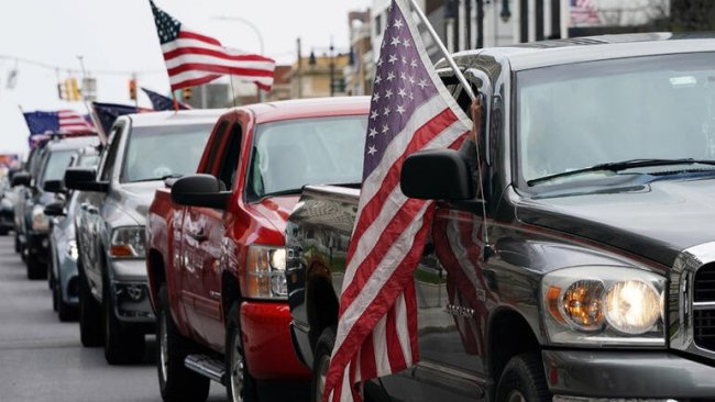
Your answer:
[[[144,334],[127,328],[114,314],[109,281],[102,286],[105,358],[110,365],[136,364],[144,358]]]

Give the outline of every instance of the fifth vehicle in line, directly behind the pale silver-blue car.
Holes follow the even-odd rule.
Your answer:
[[[20,182],[28,187],[22,208],[24,219],[21,220],[20,232],[29,279],[45,279],[47,276],[50,220],[44,209],[55,200],[55,193],[44,190],[45,182],[63,178],[65,169],[69,166],[69,159],[77,149],[98,144],[97,136],[54,136],[37,154],[40,160],[33,167],[32,176],[19,177],[21,174],[15,174],[13,177],[15,183]],[[20,179],[24,181],[21,182]]]

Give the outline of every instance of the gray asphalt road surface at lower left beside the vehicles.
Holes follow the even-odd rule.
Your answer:
[[[102,348],[81,346],[77,323],[57,320],[47,282],[26,279],[12,236],[0,237],[0,401],[158,402],[148,346],[141,365],[108,366]],[[226,401],[224,388],[211,383],[209,401]]]

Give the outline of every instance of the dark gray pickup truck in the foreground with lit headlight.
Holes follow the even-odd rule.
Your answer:
[[[403,192],[437,200],[415,271],[420,361],[367,395],[713,401],[715,38],[586,37],[455,62],[484,97],[482,175],[457,150],[406,159]],[[286,227],[316,401],[359,197],[307,187]]]

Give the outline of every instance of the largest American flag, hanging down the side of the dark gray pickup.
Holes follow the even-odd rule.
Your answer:
[[[418,360],[413,272],[435,202],[406,198],[399,174],[417,150],[459,147],[471,126],[431,66],[410,9],[393,0],[373,83],[363,186],[323,401],[360,400],[355,383]]]

